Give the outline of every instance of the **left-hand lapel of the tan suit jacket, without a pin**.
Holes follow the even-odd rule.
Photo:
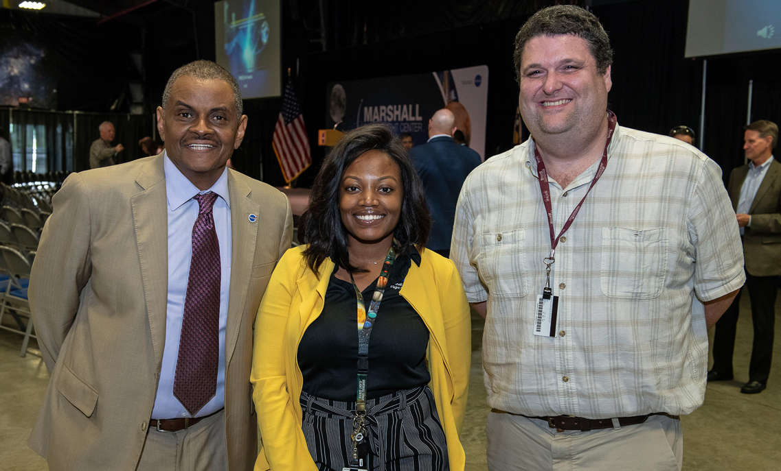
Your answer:
[[[130,197],[138,260],[144,285],[149,330],[155,349],[155,368],[160,370],[166,345],[166,303],[168,299],[168,211],[166,174],[162,154],[137,175],[141,192]]]

